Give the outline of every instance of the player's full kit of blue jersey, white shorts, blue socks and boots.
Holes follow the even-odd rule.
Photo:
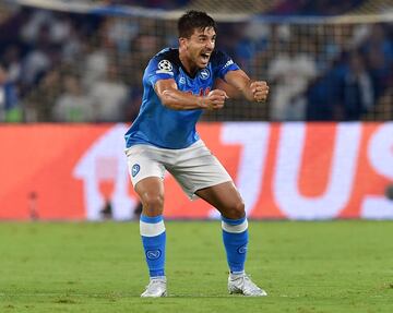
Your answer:
[[[126,154],[134,186],[148,177],[164,179],[165,171],[168,170],[187,195],[193,198],[201,189],[231,181],[228,172],[195,131],[202,110],[167,108],[154,87],[159,80],[174,79],[179,91],[204,96],[213,88],[216,79],[225,80],[228,71],[238,69],[229,57],[219,51],[214,51],[207,67],[200,69],[194,76],[190,76],[183,69],[178,49],[165,49],[150,61],[143,75],[142,107],[136,120],[126,133]],[[229,279],[240,281],[239,277],[245,277],[247,218],[245,216],[230,219],[223,216],[222,228],[230,270]],[[147,216],[142,213],[140,232],[151,277],[142,297],[166,296],[166,229],[163,215]],[[243,292],[242,286],[241,288],[228,287],[228,290]],[[255,288],[260,290],[257,286]]]

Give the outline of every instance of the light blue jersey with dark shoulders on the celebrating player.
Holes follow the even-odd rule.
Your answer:
[[[199,140],[195,124],[201,109],[174,110],[165,107],[154,91],[159,80],[174,79],[181,92],[207,95],[216,79],[239,67],[225,53],[214,51],[206,68],[191,77],[179,60],[179,50],[167,48],[158,52],[143,75],[143,99],[140,112],[126,133],[126,145],[150,144],[162,148],[186,148]]]

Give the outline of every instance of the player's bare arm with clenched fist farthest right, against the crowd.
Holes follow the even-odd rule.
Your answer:
[[[249,101],[264,103],[269,86],[264,81],[252,81],[242,70],[229,71],[223,80],[216,81],[216,88],[223,89],[230,98],[243,96]]]

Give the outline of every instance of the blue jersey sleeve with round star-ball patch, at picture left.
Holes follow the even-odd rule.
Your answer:
[[[146,68],[146,77],[152,86],[159,80],[175,79],[175,65],[165,56],[154,57],[147,68]]]

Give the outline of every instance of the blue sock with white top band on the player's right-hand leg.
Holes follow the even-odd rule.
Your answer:
[[[229,219],[222,216],[223,240],[230,273],[245,272],[248,244],[247,218]]]

